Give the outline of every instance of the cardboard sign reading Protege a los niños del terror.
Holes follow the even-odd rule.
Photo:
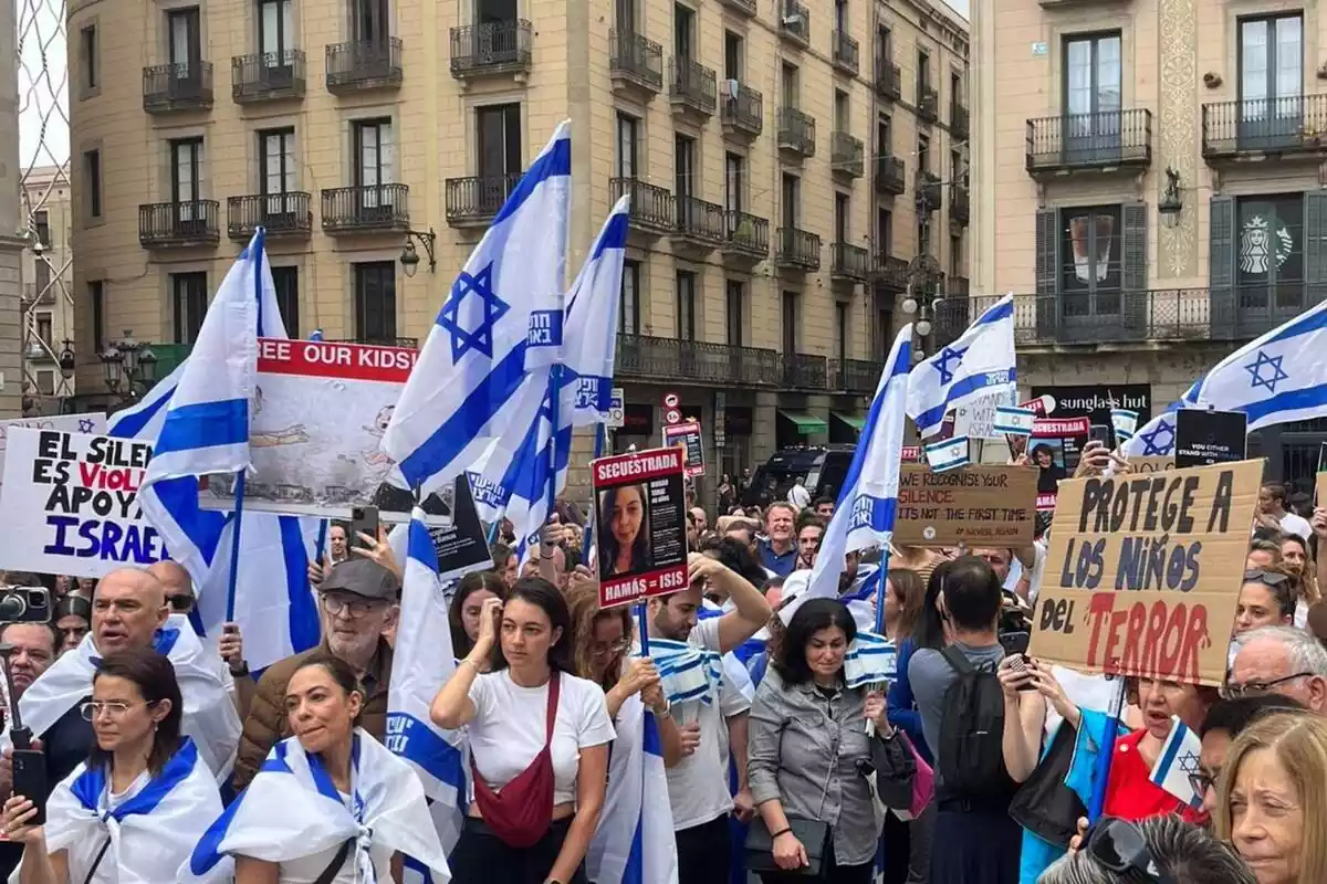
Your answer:
[[[1060,482],[1028,652],[1220,687],[1262,460]]]

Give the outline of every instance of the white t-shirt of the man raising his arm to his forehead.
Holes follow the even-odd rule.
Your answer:
[[[697,623],[687,643],[718,653],[721,619],[710,618]],[[673,804],[674,828],[701,826],[733,810],[733,794],[729,791],[727,718],[750,709],[751,702],[733,685],[727,675],[723,675],[718,701],[706,704],[691,700],[673,704],[673,720],[678,726],[693,721],[701,724],[701,745],[674,767],[667,769],[667,795]]]

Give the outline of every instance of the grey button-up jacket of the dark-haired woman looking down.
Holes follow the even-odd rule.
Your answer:
[[[788,816],[829,824],[839,865],[869,863],[880,828],[859,762],[871,761],[867,692],[825,697],[786,687],[771,665],[751,704],[747,782],[756,804],[778,798]]]

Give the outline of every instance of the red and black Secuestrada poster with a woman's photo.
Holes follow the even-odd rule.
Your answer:
[[[600,607],[686,588],[686,497],[681,448],[591,464]]]

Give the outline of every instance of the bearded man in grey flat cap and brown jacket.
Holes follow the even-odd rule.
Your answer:
[[[285,687],[300,663],[314,653],[330,653],[354,668],[368,694],[360,726],[377,740],[386,736],[391,645],[384,632],[395,619],[401,582],[377,562],[350,559],[332,567],[317,594],[322,641],[316,648],[277,660],[259,679],[235,761],[236,790],[248,786],[272,746],[291,736]]]

